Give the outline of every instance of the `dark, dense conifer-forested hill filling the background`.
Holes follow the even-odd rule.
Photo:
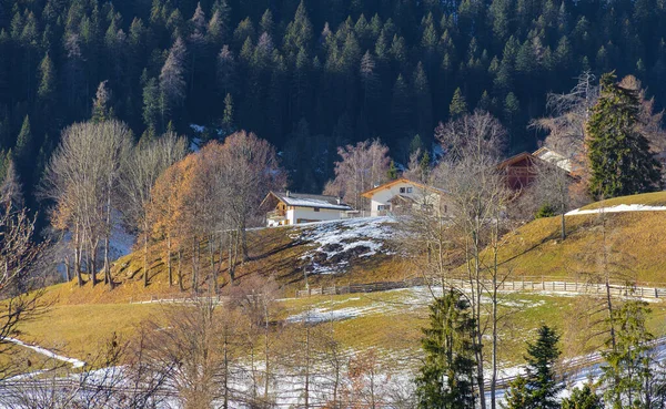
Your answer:
[[[0,145],[34,184],[108,81],[137,137],[251,130],[317,191],[335,146],[379,136],[406,162],[451,110],[487,109],[512,151],[534,147],[528,120],[586,69],[665,100],[664,0],[299,1],[0,0]]]

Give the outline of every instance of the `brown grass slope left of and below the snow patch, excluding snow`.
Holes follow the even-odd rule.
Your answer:
[[[301,257],[316,247],[315,244],[300,239],[302,232],[312,227],[286,227],[271,228],[249,232],[249,256],[250,260],[239,266],[236,270],[238,282],[243,283],[252,276],[276,279],[284,296],[293,296],[296,289],[304,287],[304,267],[307,262]],[[387,245],[387,244],[385,244]],[[206,244],[202,243],[202,252]],[[183,283],[185,292],[180,292],[176,286],[168,284],[167,266],[161,259],[165,253],[160,245],[152,246],[150,286],[143,286],[143,254],[141,250],[132,253],[118,259],[112,267],[112,275],[119,285],[113,289],[104,285],[92,288],[85,284],[79,288],[74,280],[60,284],[49,288],[47,297],[58,305],[77,304],[114,304],[138,300],[149,300],[151,297],[183,297],[190,294],[190,257],[184,253],[183,258]],[[226,259],[222,259],[222,274],[220,285],[228,285]],[[205,277],[210,270],[206,266],[208,256],[202,253],[203,269],[201,277]],[[218,257],[215,256],[218,262]],[[175,262],[174,269],[175,269]],[[336,274],[310,275],[311,286],[329,286],[333,284],[346,285],[356,283],[370,283],[375,280],[398,280],[405,278],[405,268],[400,257],[386,254],[376,254],[372,257],[354,258],[349,267],[340,268]],[[173,273],[175,275],[175,270]],[[205,287],[205,286],[204,286]]]

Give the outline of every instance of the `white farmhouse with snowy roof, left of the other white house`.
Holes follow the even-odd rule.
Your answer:
[[[301,223],[336,221],[352,207],[340,197],[302,193],[270,192],[260,205],[265,209],[266,226],[286,226]]]

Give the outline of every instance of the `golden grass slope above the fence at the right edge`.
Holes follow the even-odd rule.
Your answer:
[[[602,216],[566,217],[567,238],[559,238],[559,217],[534,221],[504,237],[500,259],[514,276],[585,279],[599,274]],[[606,248],[612,268],[625,279],[666,285],[666,214],[606,214]]]

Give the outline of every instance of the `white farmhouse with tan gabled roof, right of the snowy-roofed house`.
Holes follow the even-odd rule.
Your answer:
[[[450,212],[450,204],[444,191],[410,181],[406,177],[384,183],[362,195],[371,201],[370,214],[372,217],[403,214],[411,209],[423,208],[438,211],[442,216],[446,216]]]

